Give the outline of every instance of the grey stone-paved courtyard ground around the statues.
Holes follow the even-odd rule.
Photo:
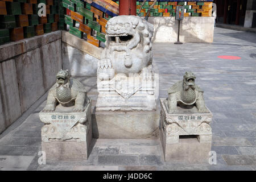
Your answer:
[[[0,135],[0,170],[256,170],[256,34],[215,28],[212,44],[154,44],[159,97],[183,78],[197,76],[205,104],[213,113],[212,150],[217,164],[164,162],[159,138],[93,139],[88,160],[38,164],[41,150],[38,113],[47,94]],[[217,56],[239,56],[225,60]],[[80,77],[88,96],[97,99],[96,77]]]

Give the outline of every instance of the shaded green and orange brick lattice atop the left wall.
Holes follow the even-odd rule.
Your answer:
[[[46,16],[38,16],[39,3],[46,4]],[[61,29],[60,13],[59,0],[0,0],[0,44]]]

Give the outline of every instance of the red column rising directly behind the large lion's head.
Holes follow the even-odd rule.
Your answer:
[[[136,15],[136,0],[119,0],[119,15]]]

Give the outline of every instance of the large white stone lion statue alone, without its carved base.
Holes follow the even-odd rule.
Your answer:
[[[152,69],[152,24],[138,16],[115,16],[106,24],[105,49],[98,61],[97,76],[110,80],[118,73],[143,73]]]

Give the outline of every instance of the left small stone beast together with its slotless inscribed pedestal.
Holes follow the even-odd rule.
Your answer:
[[[57,105],[59,103],[59,105]],[[57,74],[49,90],[46,107],[39,113],[42,151],[47,160],[87,159],[92,140],[91,99],[81,83],[68,71]]]

